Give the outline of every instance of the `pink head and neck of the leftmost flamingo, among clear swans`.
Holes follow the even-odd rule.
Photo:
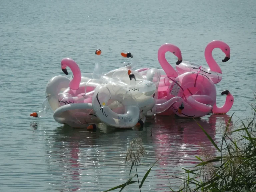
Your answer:
[[[82,75],[81,75],[79,66],[73,59],[64,58],[61,60],[61,69],[66,75],[68,75],[66,67],[69,67],[71,69],[73,76],[74,76],[74,78],[69,83],[70,89],[72,89],[72,90],[79,89],[79,84],[82,79]]]

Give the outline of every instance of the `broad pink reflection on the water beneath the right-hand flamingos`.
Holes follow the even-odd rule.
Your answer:
[[[225,122],[224,126],[226,126],[229,118],[230,116],[226,114],[213,114],[208,120],[156,116],[155,123],[160,128],[152,129],[152,139],[156,146],[154,150],[156,157],[160,157],[161,155],[162,157],[157,163],[159,168],[152,171],[154,171],[157,180],[166,181],[156,182],[156,185],[158,186],[157,189],[165,191],[166,186],[169,183],[163,169],[169,175],[178,176],[178,174],[182,173],[180,167],[185,169],[188,169],[189,167],[190,169],[198,164],[199,160],[195,156],[200,156],[202,144],[204,150],[206,150],[210,156],[216,155],[217,150],[198,124],[203,127],[218,145],[216,139],[216,127],[218,129],[223,128],[223,125],[221,125],[221,122],[223,124],[223,119]],[[230,123],[230,126],[232,126],[232,122]],[[171,178],[169,178],[169,180],[173,182],[177,181]]]

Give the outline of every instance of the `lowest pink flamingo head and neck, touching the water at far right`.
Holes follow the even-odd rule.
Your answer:
[[[228,90],[223,91],[221,93],[221,95],[227,95],[226,101],[222,107],[217,107],[216,102],[215,102],[213,109],[212,109],[212,112],[214,114],[226,114],[233,106],[234,96]]]

